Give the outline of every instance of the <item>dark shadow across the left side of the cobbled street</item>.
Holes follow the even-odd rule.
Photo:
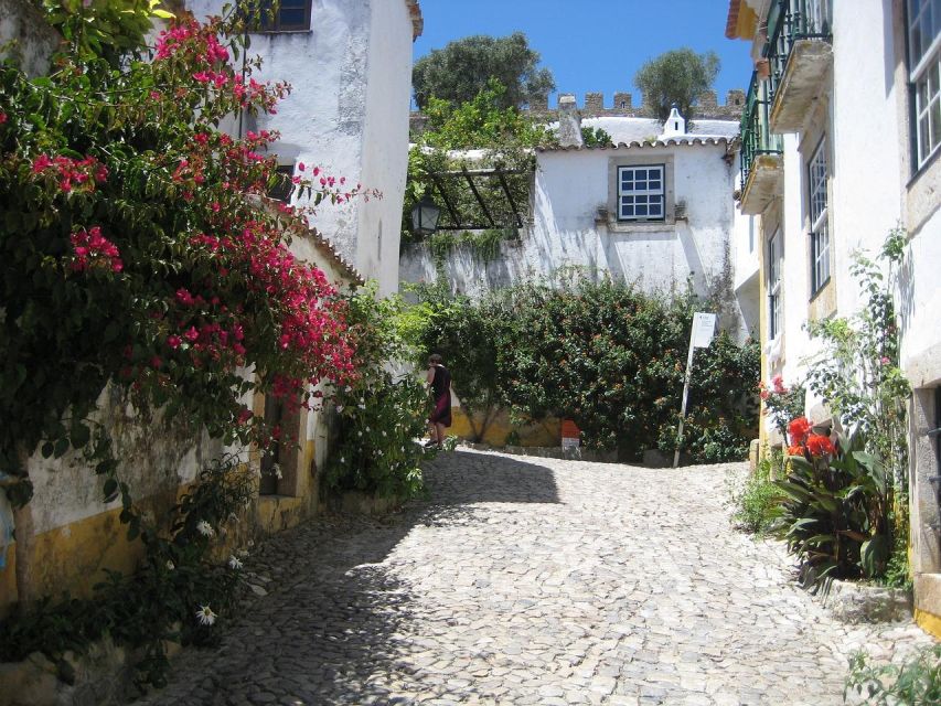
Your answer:
[[[491,453],[428,464],[429,498],[382,520],[323,517],[260,546],[248,569],[270,593],[214,650],[186,650],[170,686],[139,704],[387,704],[424,693],[408,655],[415,596],[384,559],[417,524],[473,522],[480,503],[558,503],[553,471]]]

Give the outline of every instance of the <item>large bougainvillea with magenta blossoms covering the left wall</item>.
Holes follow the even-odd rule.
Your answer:
[[[239,13],[181,15],[141,61],[142,44],[95,34],[113,4],[76,11],[85,33],[62,20],[82,47],[49,77],[0,67],[0,471],[22,479],[8,489],[17,504],[38,448],[85,448],[114,475],[107,434],[89,422],[105,385],[142,413],[265,443],[245,393],[309,405],[313,385],[355,377],[345,303],[288,246],[321,204],[359,189],[299,165],[291,185],[309,206],[266,202],[277,133],[218,126],[275,113],[289,86],[255,81],[258,60],[233,68]]]

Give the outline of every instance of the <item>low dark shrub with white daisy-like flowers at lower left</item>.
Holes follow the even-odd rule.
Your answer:
[[[142,649],[139,685],[162,686],[169,668],[165,643],[213,643],[235,610],[245,554],[222,564],[211,557],[254,493],[255,479],[229,456],[201,471],[167,522],[126,506],[141,527],[146,556],[140,569],[129,577],[107,571],[89,599],[55,605],[46,599],[14,613],[0,623],[0,662],[35,651],[57,661],[107,634],[116,644]]]

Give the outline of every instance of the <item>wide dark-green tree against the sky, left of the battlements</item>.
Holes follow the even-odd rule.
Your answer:
[[[518,108],[555,89],[552,72],[539,68],[538,63],[538,52],[530,49],[522,32],[503,38],[466,36],[415,62],[415,100],[423,110],[432,97],[464,103],[495,78],[506,88],[500,107]]]

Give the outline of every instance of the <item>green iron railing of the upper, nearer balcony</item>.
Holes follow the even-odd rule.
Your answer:
[[[770,94],[773,100],[788,68],[791,51],[799,40],[833,41],[833,0],[778,0],[768,13],[768,60]]]

